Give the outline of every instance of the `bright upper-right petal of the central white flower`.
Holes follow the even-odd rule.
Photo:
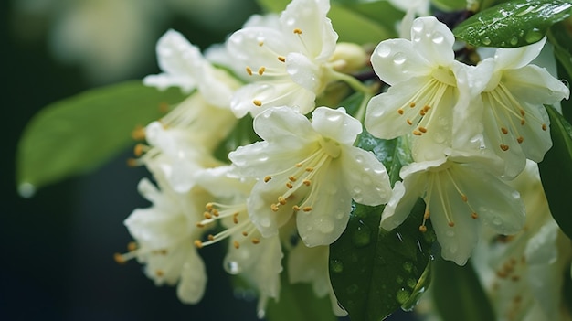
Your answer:
[[[312,112],[312,127],[325,138],[352,145],[362,133],[362,124],[348,115],[344,108],[319,107]]]

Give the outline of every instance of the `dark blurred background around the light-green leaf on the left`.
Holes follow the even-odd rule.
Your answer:
[[[148,204],[136,192],[143,168],[125,151],[83,177],[16,193],[16,144],[50,102],[86,89],[158,72],[154,45],[168,28],[201,48],[222,42],[259,8],[253,0],[6,0],[2,35],[0,320],[254,320],[255,303],[237,300],[221,264],[209,264],[200,305],[157,288],[137,262],[113,253],[131,238],[122,224]],[[97,148],[97,146],[94,146]],[[205,251],[221,262],[222,252]],[[210,257],[208,257],[210,256]]]

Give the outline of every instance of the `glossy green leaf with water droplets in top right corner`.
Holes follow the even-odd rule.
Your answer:
[[[471,16],[453,34],[476,47],[522,47],[542,39],[548,27],[570,16],[571,7],[569,0],[507,2]]]

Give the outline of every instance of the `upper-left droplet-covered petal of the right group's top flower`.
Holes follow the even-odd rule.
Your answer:
[[[379,79],[389,85],[419,76],[428,76],[433,67],[405,39],[380,42],[371,56],[371,63]]]

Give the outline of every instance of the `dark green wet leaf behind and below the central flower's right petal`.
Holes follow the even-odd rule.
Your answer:
[[[365,132],[357,145],[384,161],[392,184],[410,157],[400,139],[385,141]],[[424,209],[419,201],[401,226],[387,231],[379,228],[383,206],[354,204],[346,230],[330,246],[334,292],[352,320],[381,320],[399,307],[410,309],[429,284],[422,275],[435,234],[429,224],[427,232],[418,230]]]

